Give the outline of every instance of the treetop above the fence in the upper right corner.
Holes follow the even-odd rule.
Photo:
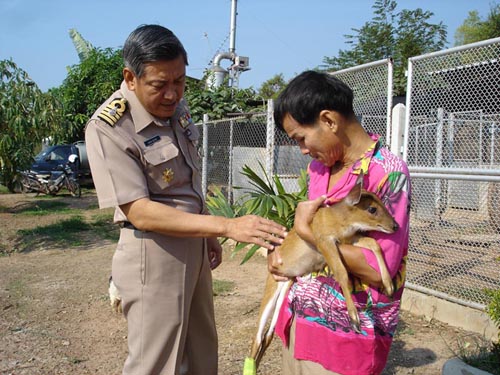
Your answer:
[[[469,16],[455,32],[455,46],[479,42],[500,36],[500,4],[492,5],[483,21],[477,10],[471,10]]]

